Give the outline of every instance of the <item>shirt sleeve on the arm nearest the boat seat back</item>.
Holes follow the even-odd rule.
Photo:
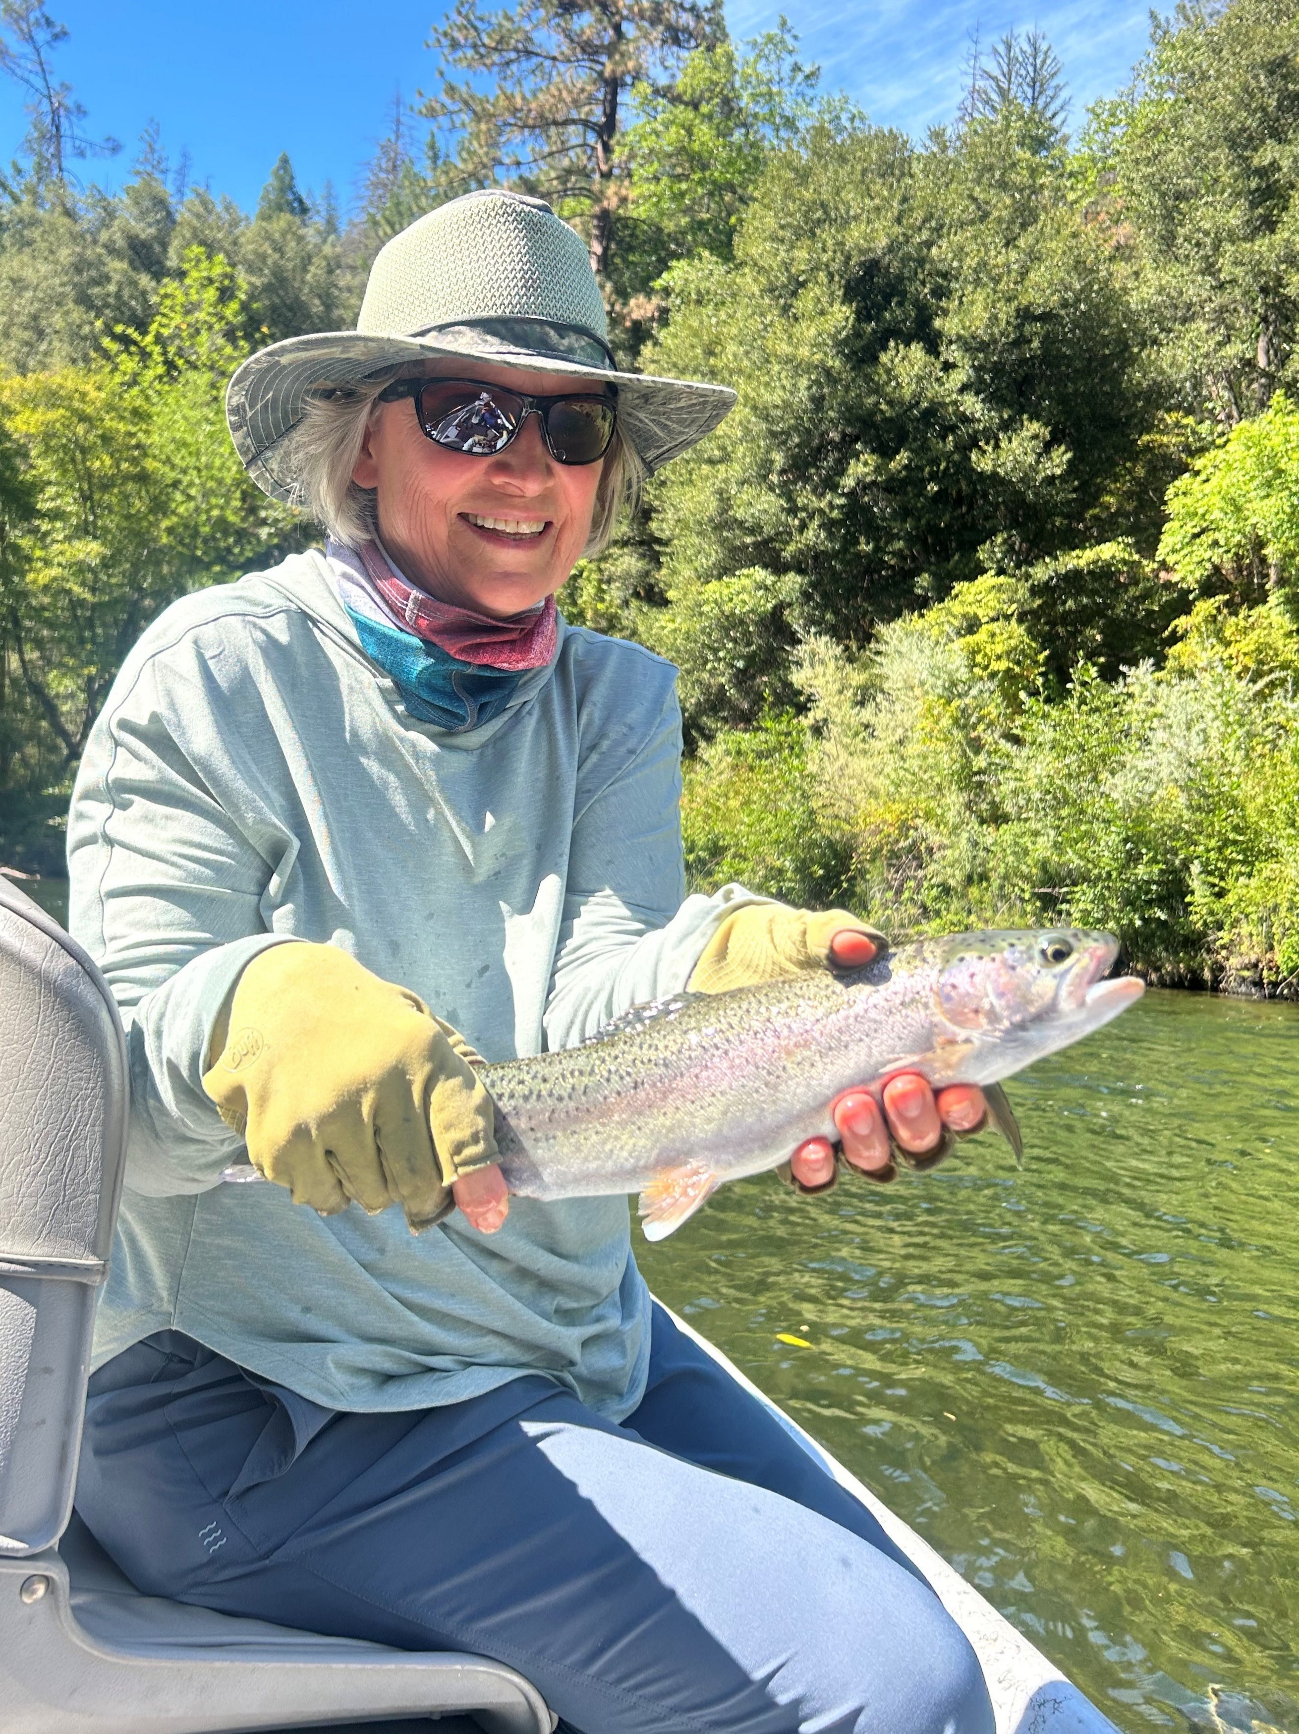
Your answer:
[[[245,964],[288,938],[262,916],[274,864],[206,787],[168,721],[177,694],[166,673],[156,659],[127,664],[68,817],[68,924],[127,1030],[125,1184],[154,1196],[205,1191],[243,1160],[241,1139],[203,1091],[208,1044]],[[201,692],[182,697],[201,709]]]

